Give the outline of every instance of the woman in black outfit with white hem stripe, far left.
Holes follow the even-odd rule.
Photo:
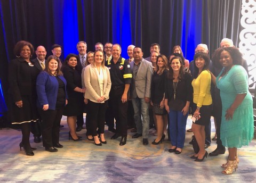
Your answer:
[[[20,124],[22,132],[21,147],[26,155],[34,156],[29,136],[31,123],[36,122],[38,113],[36,110],[36,77],[40,72],[31,61],[34,47],[31,43],[21,40],[14,47],[17,57],[9,63],[9,118],[12,124]]]

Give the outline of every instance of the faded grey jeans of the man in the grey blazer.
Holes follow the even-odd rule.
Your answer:
[[[144,98],[132,98],[134,109],[134,121],[137,128],[137,133],[142,134],[142,138],[148,138],[149,127],[149,103],[145,102]],[[141,119],[142,115],[142,119]]]

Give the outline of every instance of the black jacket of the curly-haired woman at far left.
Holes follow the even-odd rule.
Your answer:
[[[33,61],[31,63],[34,64]],[[11,60],[9,63],[9,90],[8,93],[12,95],[13,102],[22,101],[21,96],[32,95],[34,90],[32,84],[36,83],[36,78],[32,80],[30,74],[30,66],[21,57]],[[35,74],[40,70],[35,66]]]

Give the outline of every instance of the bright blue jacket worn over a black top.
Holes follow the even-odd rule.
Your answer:
[[[68,99],[67,81],[63,76],[58,77],[65,84],[66,99]],[[59,83],[55,76],[51,76],[45,71],[40,72],[36,79],[37,107],[43,109],[43,105],[49,104],[49,109],[55,110],[58,89]]]

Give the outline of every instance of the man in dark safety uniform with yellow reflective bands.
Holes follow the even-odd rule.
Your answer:
[[[111,90],[109,100],[116,119],[116,134],[111,139],[122,136],[119,145],[125,145],[127,139],[127,93],[132,81],[132,73],[129,61],[125,61],[121,55],[119,44],[111,47],[112,59],[106,63],[110,72]]]

